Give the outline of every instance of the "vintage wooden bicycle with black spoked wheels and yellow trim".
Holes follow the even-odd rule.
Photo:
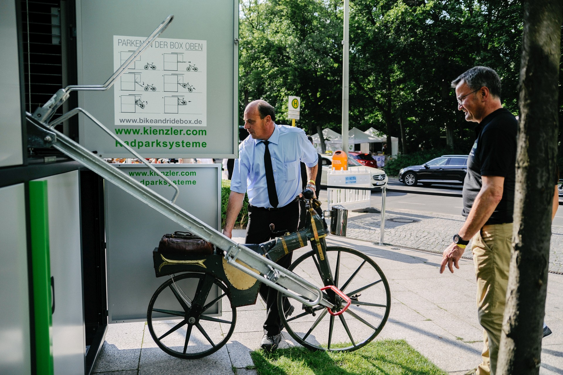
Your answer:
[[[306,306],[278,292],[285,329],[296,342],[312,350],[359,349],[372,341],[387,321],[391,307],[387,279],[368,255],[347,247],[327,247],[323,219],[314,209],[320,202],[311,199],[311,190],[303,195],[309,198],[305,199],[305,228],[291,234],[279,233],[269,242],[245,246],[277,261],[309,242],[311,249],[294,260],[288,270],[316,285],[324,285],[323,297],[333,307]],[[201,358],[224,346],[235,330],[236,309],[256,303],[263,279],[257,271],[252,277],[230,266],[220,249],[206,257],[189,254],[172,259],[155,248],[153,260],[157,277],[170,278],[150,300],[149,332],[160,349],[178,358]],[[212,288],[214,285],[217,288]],[[284,314],[285,298],[294,307],[292,316]],[[220,303],[222,316],[218,317]],[[285,302],[285,311],[288,310]],[[256,312],[255,319],[262,321],[263,312]]]

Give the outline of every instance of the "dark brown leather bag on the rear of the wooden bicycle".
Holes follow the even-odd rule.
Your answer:
[[[213,244],[189,232],[175,231],[162,236],[158,251],[164,256],[212,255]]]

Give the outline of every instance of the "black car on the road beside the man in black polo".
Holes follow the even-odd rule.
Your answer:
[[[406,186],[421,182],[432,184],[462,184],[467,173],[467,155],[442,155],[422,166],[405,167],[399,171],[399,181]]]

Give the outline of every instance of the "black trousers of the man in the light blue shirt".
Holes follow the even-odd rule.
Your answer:
[[[270,230],[270,224],[274,224],[275,231],[294,232],[297,230],[299,221],[299,202],[294,201],[287,206],[281,207],[276,211],[270,211],[261,207],[248,205],[248,225],[246,243],[262,243],[274,238],[274,234]],[[292,253],[280,258],[278,263],[280,266],[287,268],[291,265]],[[282,332],[283,324],[278,314],[278,291],[274,288],[262,284],[260,287],[260,296],[266,302],[266,321],[263,328],[264,333],[273,336]],[[287,305],[287,307],[285,306]],[[284,298],[284,307],[289,307],[289,301]]]

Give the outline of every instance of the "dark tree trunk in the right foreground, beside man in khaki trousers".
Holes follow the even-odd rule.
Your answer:
[[[514,249],[497,374],[538,374],[557,157],[560,0],[526,0],[520,68]]]

